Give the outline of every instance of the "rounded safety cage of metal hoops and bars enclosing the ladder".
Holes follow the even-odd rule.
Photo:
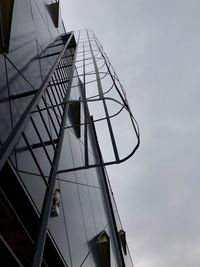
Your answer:
[[[92,31],[79,32],[75,65],[73,79],[79,80],[82,97],[77,99],[73,94],[77,84],[72,84],[69,102],[82,105],[83,116],[79,126],[82,129],[80,141],[84,144],[84,165],[59,169],[58,173],[121,163],[135,153],[140,143],[139,127],[125,90]],[[67,125],[66,129],[73,127]],[[91,131],[98,140],[103,162],[90,160]]]

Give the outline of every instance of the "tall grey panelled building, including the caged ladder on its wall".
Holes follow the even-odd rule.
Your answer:
[[[105,166],[139,130],[103,47],[59,1],[1,0],[0,24],[1,266],[133,266]]]

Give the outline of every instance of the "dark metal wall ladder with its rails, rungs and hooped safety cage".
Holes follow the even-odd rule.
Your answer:
[[[59,39],[59,42],[60,42],[60,39]],[[82,60],[83,74],[75,75],[74,71],[75,70],[77,71],[78,69],[78,68],[76,69],[75,63],[80,62],[80,60],[76,60],[77,53],[79,53],[77,49],[78,45],[82,47],[82,51],[80,51],[80,54],[82,54],[83,56],[83,60]],[[51,48],[54,46],[56,46],[55,43],[51,44],[49,47]],[[89,52],[88,52],[88,48],[89,48]],[[70,55],[66,55],[67,49],[72,50]],[[75,50],[75,52],[73,50]],[[88,53],[89,53],[89,57],[87,57]],[[8,160],[8,158],[10,157],[13,151],[15,151],[16,155],[20,152],[28,151],[32,157],[33,163],[36,165],[36,168],[39,172],[39,176],[41,177],[44,184],[46,185],[42,211],[40,214],[40,225],[39,225],[39,231],[38,231],[38,238],[35,243],[35,253],[34,253],[34,258],[32,262],[32,267],[41,266],[41,263],[42,263],[43,250],[44,250],[46,234],[47,234],[47,226],[48,226],[48,221],[49,221],[52,197],[53,197],[57,175],[59,173],[65,173],[65,172],[93,168],[93,167],[101,167],[102,172],[103,172],[104,166],[118,164],[130,158],[135,153],[135,151],[138,149],[139,144],[140,144],[139,128],[129,108],[123,87],[121,86],[121,88],[118,88],[116,81],[118,82],[119,85],[120,83],[116,76],[116,73],[113,71],[112,66],[107,56],[105,55],[104,51],[102,50],[101,45],[99,44],[98,40],[96,39],[94,35],[92,35],[91,37],[90,33],[87,31],[86,39],[82,39],[80,42],[78,39],[78,42],[76,44],[74,40],[74,34],[72,32],[68,34],[66,43],[63,44],[62,51],[52,53],[52,54],[47,53],[43,56],[40,56],[40,59],[48,58],[50,56],[57,56],[57,59],[55,59],[55,63],[50,68],[40,88],[39,89],[32,88],[33,89],[32,91],[9,97],[8,100],[11,101],[14,99],[33,95],[30,103],[28,104],[21,118],[16,123],[15,127],[13,128],[12,132],[10,133],[10,135],[8,136],[7,140],[5,141],[5,143],[3,144],[0,150],[0,170],[4,166],[5,162]],[[98,58],[103,60],[104,62],[103,66],[106,66],[107,68],[106,72],[100,71],[101,67],[98,68],[97,61],[99,59],[97,58],[97,56]],[[86,60],[88,60],[88,58],[91,59],[91,62],[92,62],[89,64],[93,64],[94,66],[94,73],[86,73],[86,66],[88,65],[86,63]],[[71,59],[72,61],[70,64],[68,62],[69,59]],[[110,75],[113,81],[113,85],[107,92],[103,92],[103,88],[101,84],[102,73],[104,75]],[[87,94],[86,94],[87,82],[85,78],[86,78],[86,75],[90,75],[90,74],[96,76],[96,79],[91,82],[97,83],[98,95],[94,95],[92,97],[87,98]],[[81,76],[83,76],[82,81],[80,79]],[[77,99],[77,100],[70,99],[70,92],[71,92],[71,89],[73,88],[72,81],[74,78],[79,79],[78,86],[80,89],[80,94],[82,96],[81,99]],[[116,92],[120,96],[121,102],[112,97],[106,97],[106,94],[110,92],[111,90],[116,90]],[[56,94],[54,93],[54,91],[56,92]],[[7,99],[3,99],[2,102],[3,101],[7,101]],[[95,120],[95,119],[92,120],[89,114],[88,103],[94,102],[94,101],[101,101],[103,103],[103,107],[105,111],[105,116],[98,120]],[[106,101],[114,101],[115,103],[118,103],[120,106],[119,111],[116,112],[115,114],[109,114]],[[69,104],[73,102],[83,103],[84,123],[80,123],[80,125],[66,125]],[[120,155],[118,153],[118,148],[117,148],[117,144],[115,141],[114,131],[112,128],[112,123],[111,123],[111,118],[117,116],[122,110],[126,110],[128,112],[128,116],[130,117],[131,123],[133,125],[133,132],[136,135],[136,139],[137,139],[137,143],[133,147],[131,153],[129,153],[129,155],[127,155],[124,158],[120,158]],[[54,131],[56,135],[55,138],[53,138],[51,134],[51,129],[49,129],[48,123],[47,121],[45,121],[44,112],[46,112],[48,115],[49,124],[51,123],[52,131]],[[40,118],[49,140],[42,139],[41,133],[38,131],[37,125],[34,120],[34,116],[36,115],[38,115],[38,117]],[[96,154],[97,157],[96,157],[96,162],[91,164],[89,162],[89,154],[88,154],[89,153],[88,138],[89,138],[89,134],[91,131],[93,131],[93,134],[94,134],[95,123],[100,120],[105,120],[107,122],[115,158],[109,162],[103,161],[103,158],[101,157],[101,144],[99,144],[97,135],[95,135],[95,142],[97,145],[96,145],[96,148],[94,148],[95,150],[94,154]],[[28,136],[26,135],[26,126],[29,123],[32,129],[34,130],[39,140],[39,143],[31,144]],[[58,125],[58,127],[56,126],[56,124]],[[77,126],[80,127],[81,125],[84,125],[84,137],[83,137],[84,165],[79,166],[79,167],[63,169],[63,170],[58,169],[65,130],[73,128],[73,127],[77,127]],[[17,147],[20,137],[22,137],[22,139],[24,140],[25,147]],[[53,159],[51,159],[49,152],[47,150],[47,146],[50,146],[50,145],[52,146],[54,150]],[[48,178],[47,178],[47,175],[45,175],[42,169],[42,166],[40,166],[36,158],[36,154],[34,151],[35,148],[43,149],[43,152],[45,153],[47,161],[49,162],[50,174],[48,175]],[[16,167],[18,168],[18,166]],[[20,169],[18,169],[18,171],[20,171]],[[122,262],[122,266],[124,266],[123,262]]]

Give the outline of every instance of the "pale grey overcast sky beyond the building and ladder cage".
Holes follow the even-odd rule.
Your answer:
[[[109,168],[135,267],[200,266],[200,1],[62,0],[124,85],[139,151]]]

